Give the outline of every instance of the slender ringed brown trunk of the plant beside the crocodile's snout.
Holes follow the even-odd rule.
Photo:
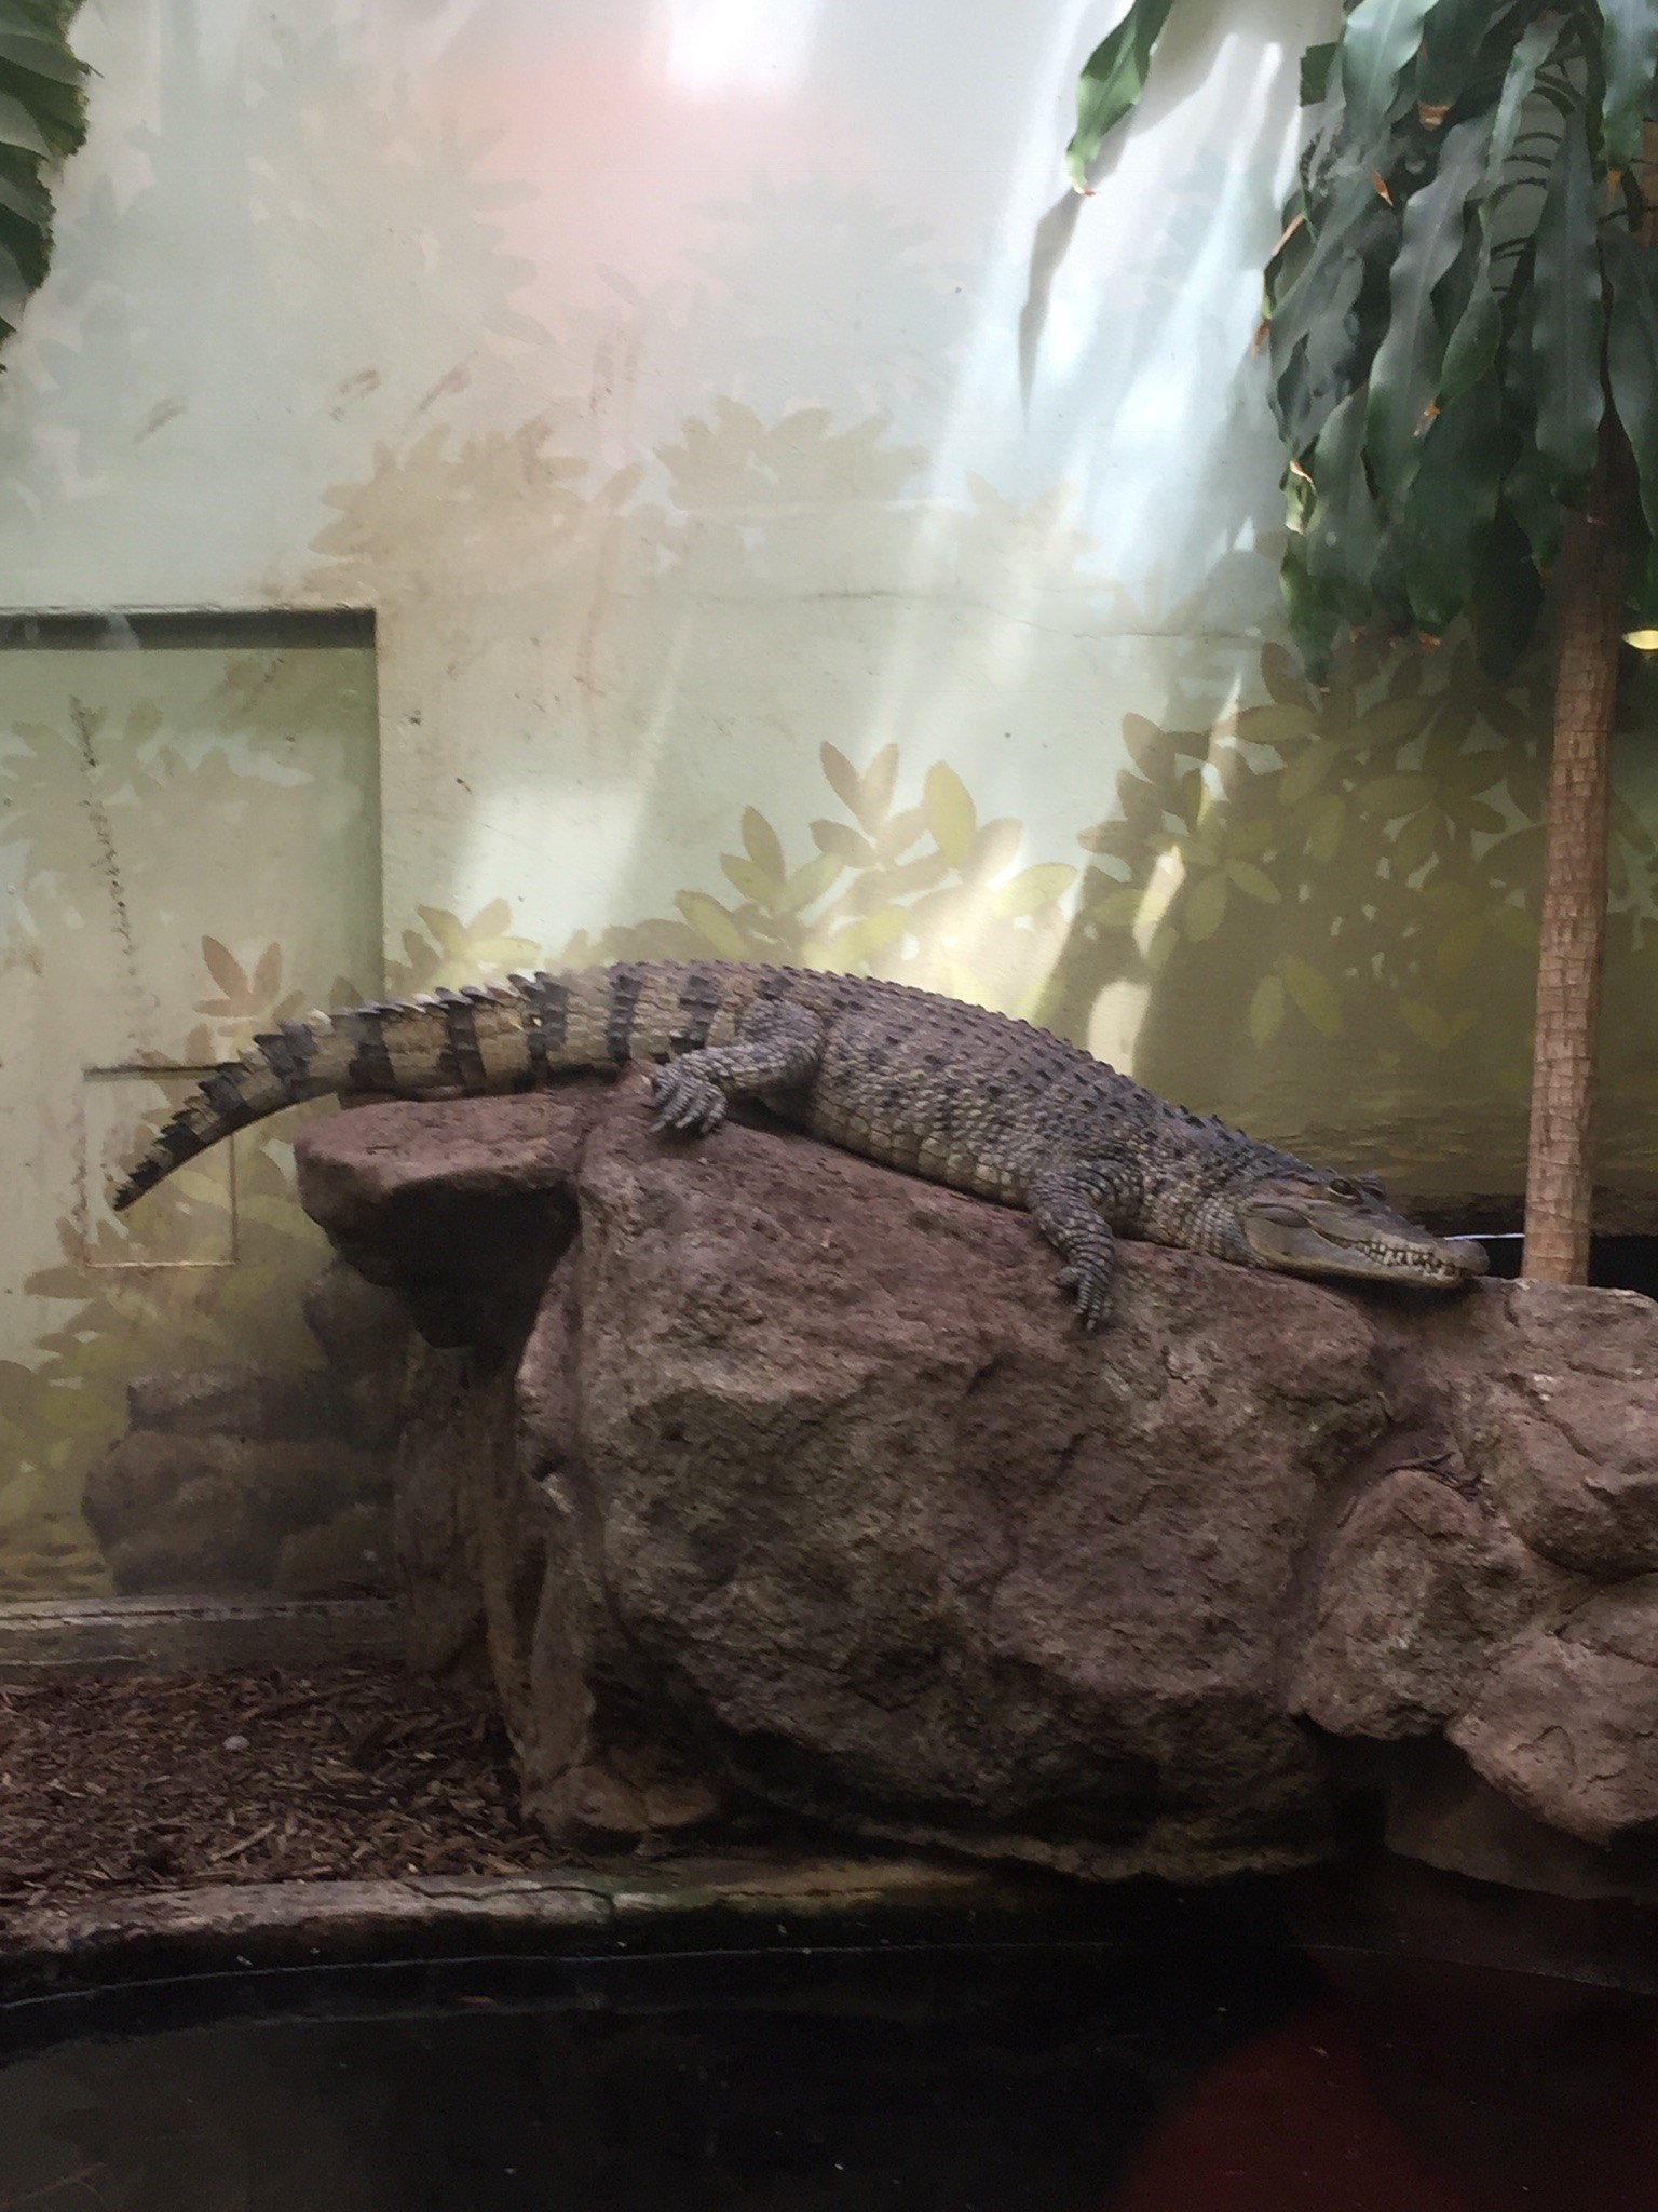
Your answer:
[[[1623,630],[1623,456],[1609,425],[1583,513],[1567,522],[1554,677],[1543,909],[1532,1037],[1525,1261],[1539,1283],[1587,1283],[1596,1029],[1607,922],[1607,752]]]

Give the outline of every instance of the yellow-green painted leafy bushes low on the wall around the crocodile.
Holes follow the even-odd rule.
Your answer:
[[[1046,1022],[1196,1108],[1386,1166],[1417,1190],[1433,1192],[1439,1170],[1466,1179],[1461,1148],[1477,1128],[1497,1188],[1512,1188],[1541,856],[1536,684],[1492,684],[1468,648],[1424,661],[1364,644],[1342,653],[1320,692],[1267,646],[1258,692],[1207,728],[1123,717],[1130,765],[1070,856],[1032,852],[1012,816],[986,818],[944,761],[884,745],[853,763],[827,743],[816,812],[807,803],[789,823],[732,810],[723,896],[683,889],[657,916],[553,947],[515,927],[502,898],[471,916],[420,907],[385,989],[710,953],[891,975]],[[294,692],[283,697],[292,710]],[[42,745],[15,759],[13,787]],[[206,790],[223,774],[217,750],[192,770]],[[1658,987],[1658,841],[1638,748],[1620,754],[1620,776],[1612,993],[1636,1009]],[[181,1040],[190,1062],[237,1051],[316,991],[296,993],[281,942],[237,953],[206,938],[197,962]],[[371,989],[340,975],[323,995]],[[1101,1011],[1121,1004],[1127,1024],[1101,1033]],[[1649,1022],[1618,1024],[1609,1075],[1620,1166],[1654,1177],[1649,1033]],[[157,1079],[146,1126],[181,1082]],[[1346,1104],[1355,1093],[1364,1117]],[[1421,1117],[1428,1095],[1444,1124]],[[1444,1128],[1450,1159],[1435,1155]],[[75,1502],[122,1429],[133,1374],[316,1358],[298,1292],[325,1245],[294,1194],[294,1135],[287,1115],[239,1139],[234,1267],[124,1267],[130,1228],[88,1239],[73,1217],[60,1221],[62,1256],[22,1287],[62,1318],[27,1360],[0,1360],[7,1595],[102,1586]],[[124,1150],[139,1139],[133,1126]],[[210,1243],[225,1206],[212,1161],[168,1188],[175,1210],[144,1225],[155,1261]]]

